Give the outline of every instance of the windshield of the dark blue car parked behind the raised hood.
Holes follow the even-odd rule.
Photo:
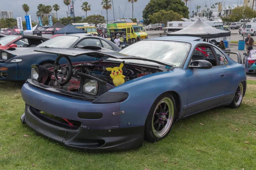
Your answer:
[[[57,36],[39,44],[37,47],[70,48],[78,39],[79,37],[76,36]]]

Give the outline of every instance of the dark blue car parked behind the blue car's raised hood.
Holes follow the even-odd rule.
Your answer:
[[[1,40],[1,39],[0,39]],[[12,48],[11,50],[0,50],[0,81],[26,81],[30,77],[31,65],[43,65],[46,68],[52,67],[55,59],[54,54],[35,52],[35,49],[44,48],[82,48],[87,46],[104,47],[109,50],[119,51],[121,48],[113,42],[92,36],[91,34],[70,34],[59,35],[36,47]],[[72,62],[89,61],[91,57],[70,58]],[[66,63],[61,60],[60,63]]]

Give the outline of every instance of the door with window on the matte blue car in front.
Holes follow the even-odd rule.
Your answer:
[[[188,77],[188,108],[186,115],[204,111],[221,105],[224,102],[226,77],[220,68],[212,46],[199,45],[195,48],[192,60],[204,59],[212,63],[210,69],[187,68]]]

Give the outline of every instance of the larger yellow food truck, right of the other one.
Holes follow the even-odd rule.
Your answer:
[[[111,24],[107,25],[108,30],[108,36],[110,34],[124,34],[126,35],[126,40],[131,40],[131,42],[135,43],[137,40],[137,37],[140,37],[140,40],[142,39],[148,39],[148,34],[145,33],[145,30],[142,25],[137,25],[137,23],[133,23],[131,21],[127,22],[129,20],[120,20]]]

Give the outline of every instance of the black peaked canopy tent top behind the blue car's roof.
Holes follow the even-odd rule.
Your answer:
[[[189,37],[201,37],[205,39],[227,37],[230,36],[230,31],[224,31],[214,28],[205,23],[201,18],[198,18],[195,23],[190,26],[176,32],[168,34],[168,36],[189,36]]]

